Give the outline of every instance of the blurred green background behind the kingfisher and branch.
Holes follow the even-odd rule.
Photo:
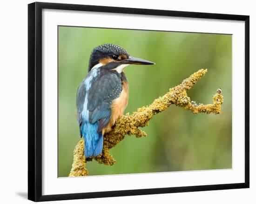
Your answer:
[[[232,36],[59,26],[58,176],[67,177],[80,140],[75,118],[76,90],[87,75],[95,46],[112,43],[154,66],[128,66],[129,102],[134,112],[201,68],[208,73],[189,90],[196,103],[212,103],[222,88],[220,115],[193,114],[175,105],[142,128],[146,138],[126,136],[110,153],[113,166],[88,162],[88,175],[232,168]]]

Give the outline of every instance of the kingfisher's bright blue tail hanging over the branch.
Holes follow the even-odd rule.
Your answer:
[[[97,156],[102,152],[103,136],[97,132],[98,124],[84,123],[81,125],[81,133],[84,137],[85,157]]]

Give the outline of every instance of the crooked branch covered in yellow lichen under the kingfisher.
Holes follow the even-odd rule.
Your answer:
[[[214,113],[219,114],[221,112],[221,105],[223,102],[223,96],[221,95],[221,89],[218,89],[213,96],[213,104],[199,104],[195,101],[191,101],[187,95],[187,91],[195,85],[198,79],[201,79],[207,72],[207,69],[201,69],[189,78],[182,81],[182,83],[174,88],[170,88],[169,91],[155,99],[151,105],[141,107],[137,112],[133,112],[131,115],[127,113],[117,120],[112,130],[104,135],[103,151],[102,153],[93,158],[85,158],[84,156],[84,142],[80,140],[74,149],[74,160],[72,169],[69,176],[86,176],[88,171],[86,169],[85,162],[95,159],[100,164],[114,165],[115,159],[109,154],[109,149],[115,147],[125,135],[135,135],[137,138],[147,136],[146,132],[143,132],[139,127],[148,125],[148,122],[153,116],[159,112],[166,110],[170,105],[182,107],[185,110],[189,110],[193,113],[205,112],[207,114]]]

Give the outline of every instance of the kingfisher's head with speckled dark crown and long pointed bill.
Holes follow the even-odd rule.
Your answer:
[[[88,72],[94,68],[116,70],[121,73],[128,65],[154,65],[145,59],[131,57],[128,52],[120,46],[103,44],[93,49],[89,60]]]

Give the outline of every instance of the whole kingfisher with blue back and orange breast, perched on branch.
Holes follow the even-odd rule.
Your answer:
[[[103,137],[123,115],[128,104],[128,65],[153,65],[131,57],[120,46],[103,44],[93,49],[88,74],[76,94],[77,122],[85,143],[85,157],[101,154]]]

